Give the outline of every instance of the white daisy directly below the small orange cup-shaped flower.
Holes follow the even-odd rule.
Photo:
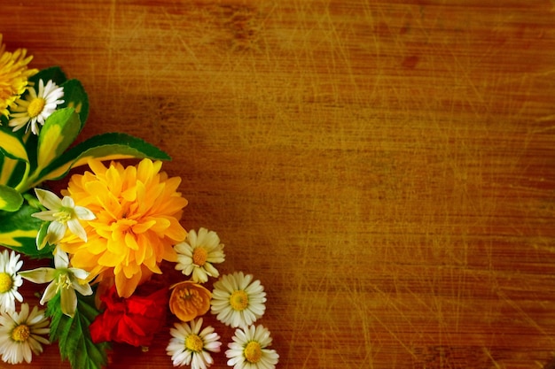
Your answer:
[[[202,331],[200,327],[202,318],[193,319],[191,323],[176,323],[169,330],[173,338],[169,340],[166,351],[174,366],[191,365],[192,369],[207,369],[214,364],[210,352],[220,352],[220,335],[214,332],[213,327]]]

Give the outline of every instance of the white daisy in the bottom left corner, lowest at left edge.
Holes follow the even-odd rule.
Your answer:
[[[29,305],[21,304],[20,313],[2,312],[0,315],[0,353],[2,360],[9,364],[31,362],[35,355],[43,352],[42,344],[50,343],[43,334],[49,334],[50,322],[44,311],[35,306],[29,313]]]

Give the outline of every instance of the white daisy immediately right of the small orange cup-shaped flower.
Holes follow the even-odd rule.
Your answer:
[[[226,326],[246,327],[264,314],[266,292],[253,275],[235,272],[214,283],[211,312]]]

